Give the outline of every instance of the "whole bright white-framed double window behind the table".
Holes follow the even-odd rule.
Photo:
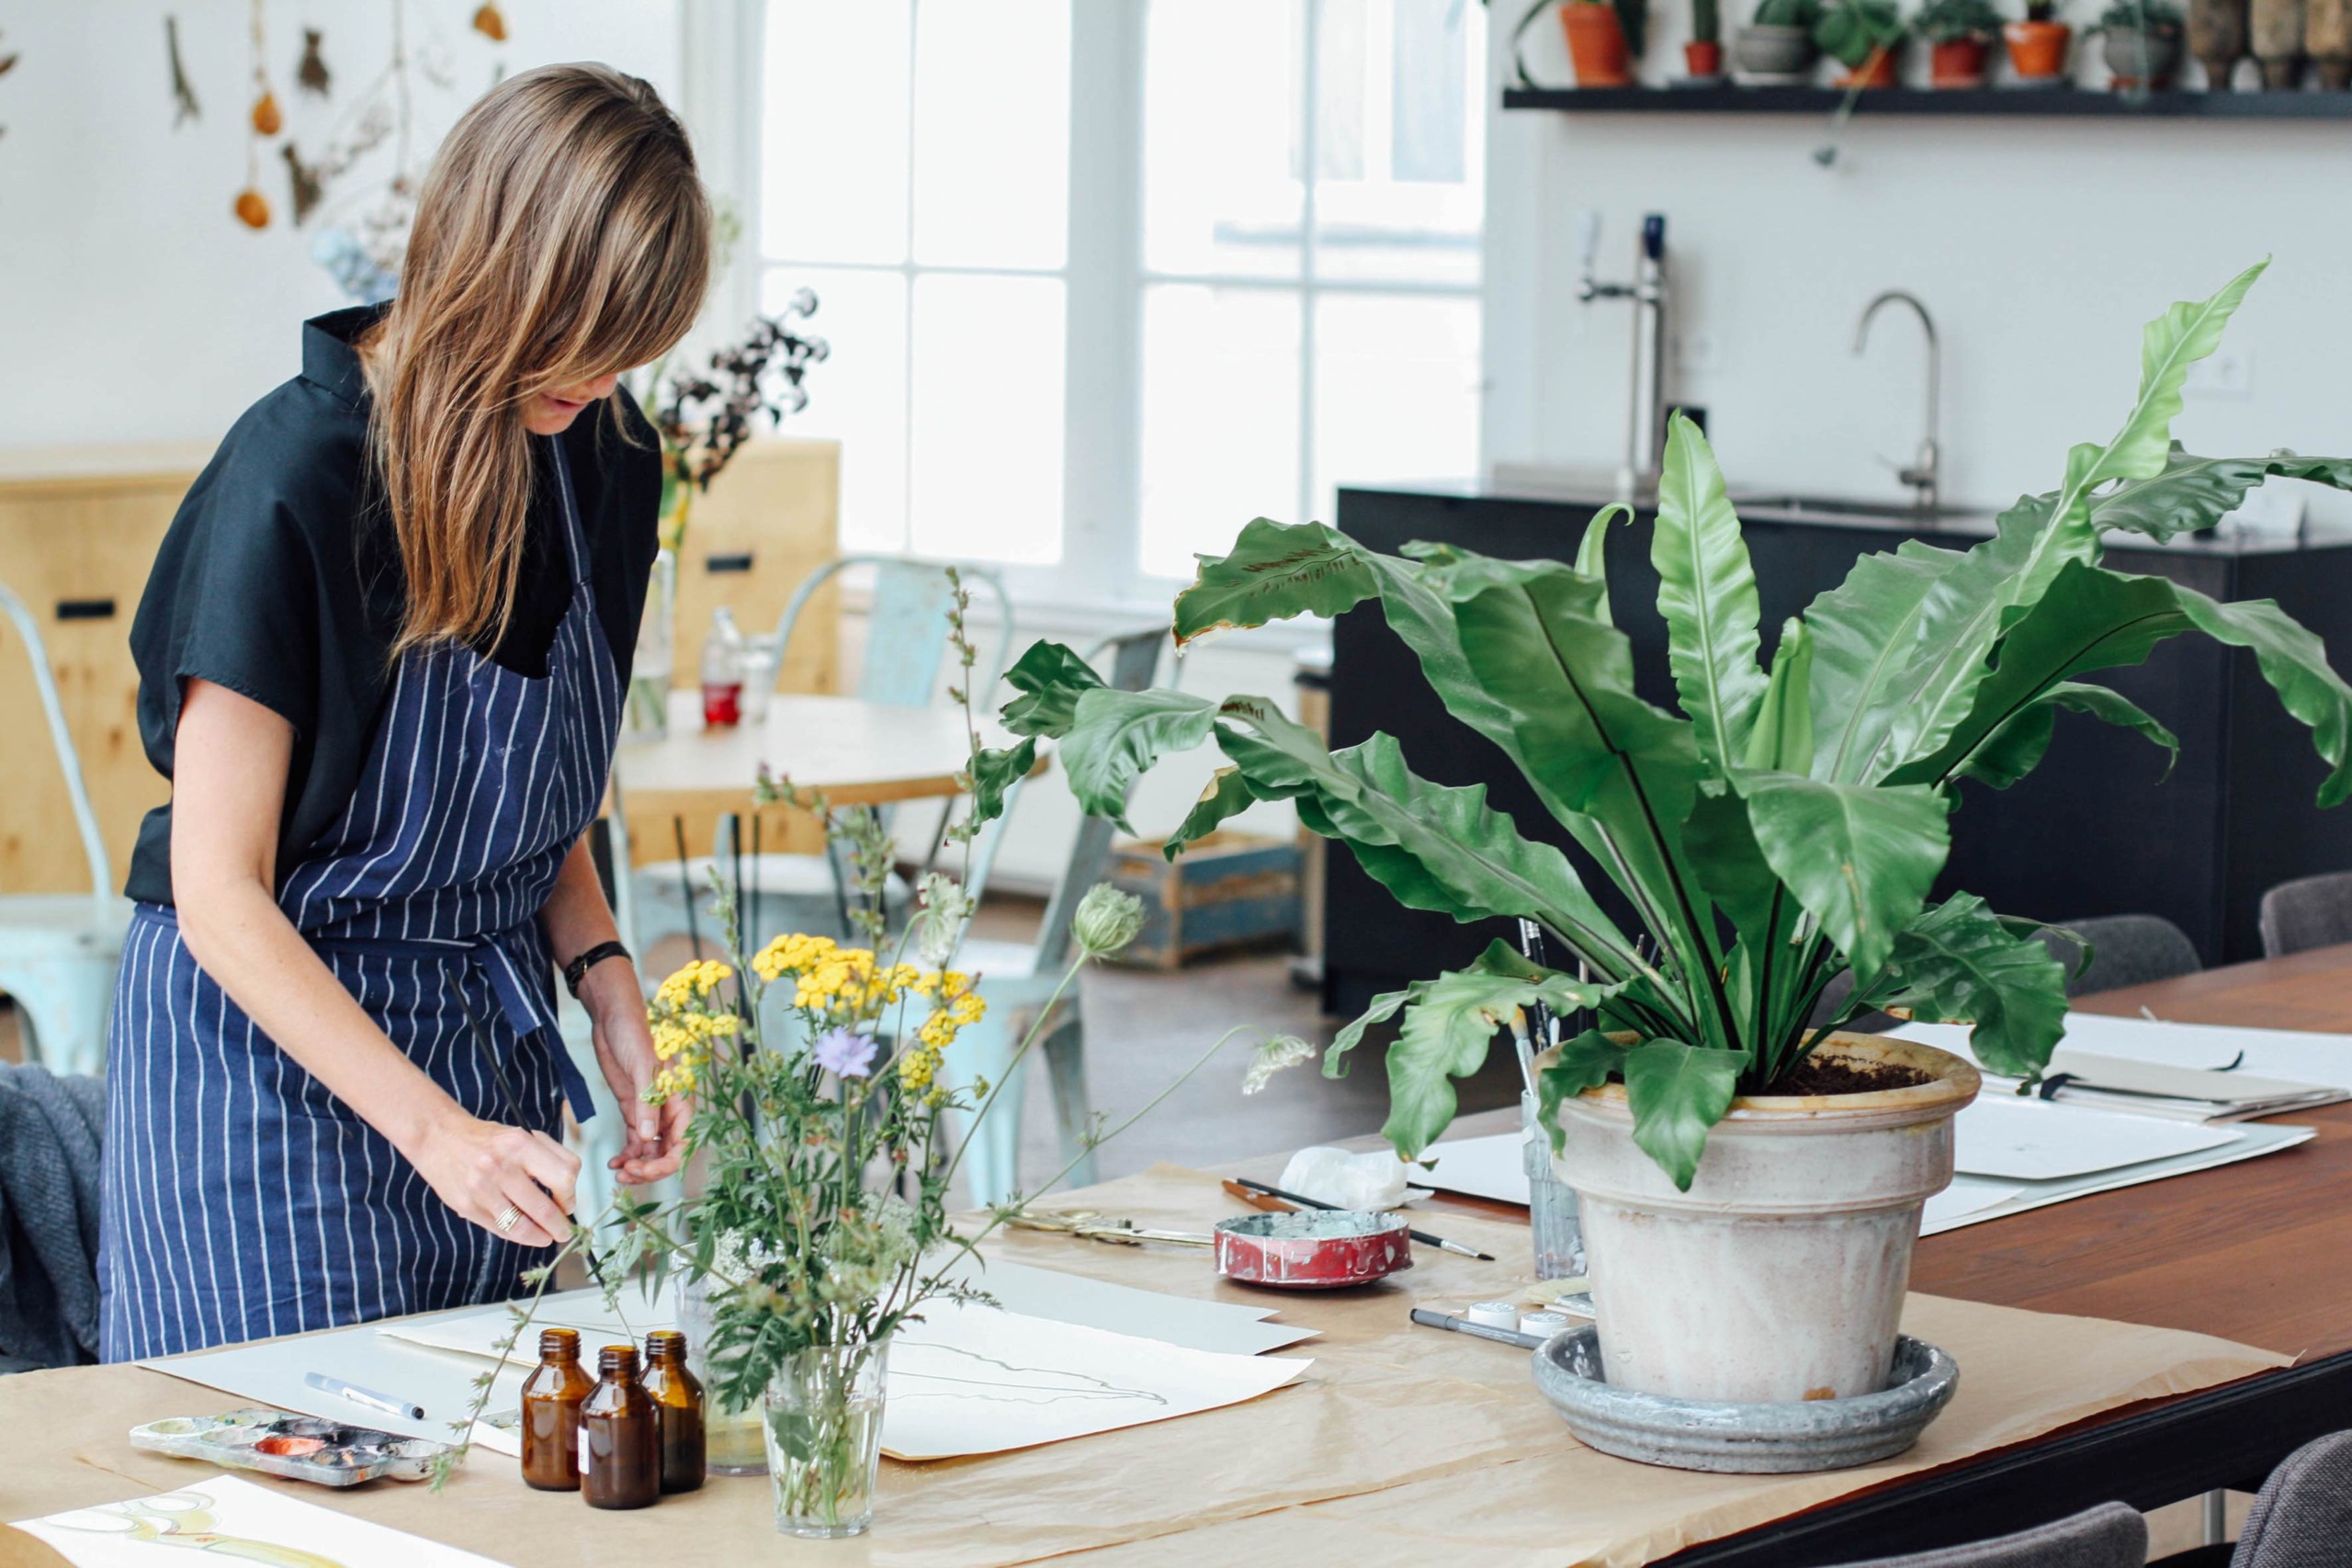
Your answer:
[[[1475,0],[769,0],[762,78],[844,548],[1112,602],[1477,468]]]

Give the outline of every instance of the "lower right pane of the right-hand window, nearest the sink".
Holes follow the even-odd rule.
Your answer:
[[[1324,294],[1315,301],[1315,515],[1341,484],[1477,473],[1475,299]]]

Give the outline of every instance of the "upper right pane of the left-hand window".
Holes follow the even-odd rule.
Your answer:
[[[1070,0],[920,0],[915,16],[915,259],[1058,268]]]

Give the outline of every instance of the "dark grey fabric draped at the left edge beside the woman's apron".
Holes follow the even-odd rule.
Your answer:
[[[99,1359],[106,1086],[0,1063],[0,1373]]]

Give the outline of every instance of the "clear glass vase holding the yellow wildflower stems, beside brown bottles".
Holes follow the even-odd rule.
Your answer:
[[[875,1516],[889,1340],[814,1345],[767,1385],[767,1483],[776,1530],[811,1540],[858,1535]]]

